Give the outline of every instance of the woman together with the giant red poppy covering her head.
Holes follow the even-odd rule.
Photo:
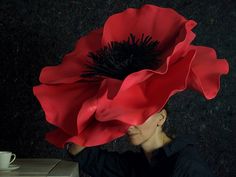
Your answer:
[[[211,176],[188,138],[172,139],[162,130],[172,95],[191,89],[213,99],[229,71],[214,49],[191,44],[196,24],[145,4],[110,16],[80,38],[61,64],[42,70],[33,89],[57,127],[46,139],[59,148],[72,142],[73,160],[92,176]],[[125,133],[141,153],[81,147]]]

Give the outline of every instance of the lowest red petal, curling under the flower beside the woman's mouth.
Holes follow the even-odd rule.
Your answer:
[[[95,97],[94,97],[95,98]],[[113,120],[107,122],[99,122],[94,117],[96,111],[96,99],[88,99],[83,104],[78,115],[78,134],[72,136],[62,129],[56,129],[47,133],[46,139],[57,147],[63,148],[66,142],[73,142],[81,146],[95,146],[107,143],[118,138],[126,132],[127,124]],[[71,127],[73,127],[71,124]]]

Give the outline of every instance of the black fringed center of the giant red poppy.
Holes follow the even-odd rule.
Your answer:
[[[157,69],[161,65],[158,44],[150,36],[144,38],[144,34],[136,40],[132,33],[127,41],[112,41],[95,53],[89,52],[93,64],[86,65],[88,70],[81,77],[107,76],[123,80],[142,69]]]

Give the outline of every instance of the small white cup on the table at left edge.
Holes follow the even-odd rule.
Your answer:
[[[9,151],[0,151],[0,169],[8,168],[9,165],[16,159],[16,154]]]

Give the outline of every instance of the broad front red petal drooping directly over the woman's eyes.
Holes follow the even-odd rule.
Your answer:
[[[172,64],[166,74],[153,72],[144,82],[119,90],[113,99],[108,98],[110,85],[104,80],[98,93],[95,117],[99,121],[119,120],[130,125],[143,123],[148,116],[160,111],[170,96],[186,88],[194,55],[194,50],[189,51]]]

